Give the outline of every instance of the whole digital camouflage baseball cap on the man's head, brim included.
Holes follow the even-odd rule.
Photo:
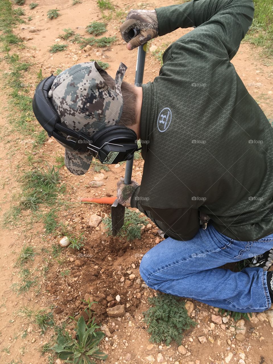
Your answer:
[[[54,80],[48,96],[58,112],[61,123],[92,137],[106,126],[118,123],[122,114],[121,83],[127,67],[120,63],[112,90],[99,73],[97,62],[79,63],[61,72]],[[103,70],[105,74],[107,72]],[[65,136],[66,137],[66,136]],[[76,175],[83,175],[90,167],[92,154],[66,148],[64,163]]]

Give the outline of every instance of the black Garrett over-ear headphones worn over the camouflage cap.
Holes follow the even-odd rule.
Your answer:
[[[90,137],[61,124],[61,119],[48,96],[55,78],[56,76],[51,75],[42,80],[36,87],[32,100],[34,115],[48,136],[54,137],[75,152],[90,152],[101,163],[116,164],[132,159],[134,152],[140,148],[138,149],[137,145],[137,134],[130,128],[106,126]]]

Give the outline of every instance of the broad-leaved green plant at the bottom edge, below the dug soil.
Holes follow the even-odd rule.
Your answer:
[[[99,351],[98,344],[103,339],[104,333],[95,332],[98,325],[86,325],[83,316],[78,320],[75,328],[76,338],[72,339],[68,332],[59,334],[57,344],[50,349],[55,351],[62,360],[72,360],[72,363],[95,364],[93,359],[105,360],[107,355]],[[93,359],[91,359],[93,358]]]

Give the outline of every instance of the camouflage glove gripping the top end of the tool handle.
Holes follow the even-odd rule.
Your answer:
[[[140,33],[130,40],[128,33],[131,29],[139,29]],[[158,36],[157,13],[155,10],[131,10],[119,30],[128,43],[128,50],[137,48]]]

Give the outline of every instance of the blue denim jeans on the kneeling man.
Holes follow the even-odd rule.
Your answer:
[[[257,241],[236,241],[209,225],[189,241],[163,240],[143,256],[139,270],[146,284],[161,292],[237,312],[261,312],[271,306],[267,272],[217,267],[272,247],[273,234]]]

